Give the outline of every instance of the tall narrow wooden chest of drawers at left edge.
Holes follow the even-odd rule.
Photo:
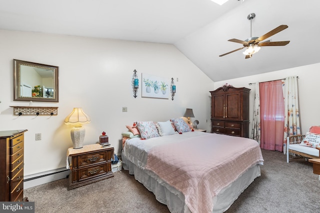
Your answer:
[[[0,131],[0,201],[22,202],[23,145],[27,130]]]

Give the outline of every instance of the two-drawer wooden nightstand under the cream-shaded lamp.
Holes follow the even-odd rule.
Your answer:
[[[84,145],[81,149],[69,148],[66,154],[71,158],[68,190],[113,177],[113,153],[113,147],[101,148],[100,144]]]

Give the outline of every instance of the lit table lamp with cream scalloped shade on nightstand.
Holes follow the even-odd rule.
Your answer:
[[[73,149],[83,147],[85,129],[82,124],[90,123],[90,121],[89,116],[82,111],[82,108],[73,108],[72,112],[64,119],[66,125],[74,126],[70,131]]]

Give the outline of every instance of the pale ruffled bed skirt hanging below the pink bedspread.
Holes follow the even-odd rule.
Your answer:
[[[182,193],[169,186],[154,173],[148,170],[138,168],[132,162],[122,155],[122,168],[128,170],[130,175],[134,175],[135,180],[143,184],[143,186],[155,195],[158,202],[165,204],[171,213],[191,213],[184,203]],[[212,198],[212,213],[223,213],[238,196],[253,182],[256,177],[260,176],[259,165],[253,165],[237,180],[220,191],[220,193]]]

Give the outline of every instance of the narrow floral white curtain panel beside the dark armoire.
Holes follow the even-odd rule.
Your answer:
[[[254,106],[253,106],[253,124],[251,131],[251,139],[256,140],[260,144],[260,95],[259,83],[255,83]]]

